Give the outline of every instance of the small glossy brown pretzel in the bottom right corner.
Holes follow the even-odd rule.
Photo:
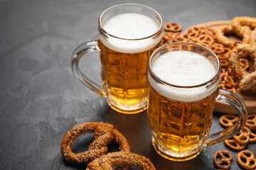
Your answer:
[[[255,169],[256,168],[256,159],[255,156],[250,150],[242,150],[238,153],[238,164],[244,169]],[[245,162],[243,162],[245,160]]]

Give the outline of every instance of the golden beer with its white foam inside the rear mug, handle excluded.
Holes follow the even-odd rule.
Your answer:
[[[107,103],[120,113],[146,110],[149,57],[160,46],[161,22],[145,13],[117,13],[102,28],[113,35],[100,30],[98,40]]]

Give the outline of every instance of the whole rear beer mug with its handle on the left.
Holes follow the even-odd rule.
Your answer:
[[[149,57],[161,44],[162,19],[153,8],[119,4],[104,11],[98,23],[99,40],[85,42],[71,57],[72,69],[85,86],[107,98],[119,113],[140,113],[147,108]],[[99,52],[102,85],[78,67],[81,57]]]

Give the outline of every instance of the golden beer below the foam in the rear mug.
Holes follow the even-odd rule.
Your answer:
[[[119,108],[146,109],[148,96],[147,71],[149,57],[156,50],[156,45],[147,51],[139,53],[122,53],[111,50],[98,42],[100,60],[102,63],[101,76],[111,106]]]

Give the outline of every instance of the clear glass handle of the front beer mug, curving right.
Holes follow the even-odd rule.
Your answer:
[[[220,89],[216,100],[223,101],[230,104],[230,106],[233,106],[233,108],[238,112],[238,121],[230,128],[206,136],[206,140],[203,141],[203,146],[213,145],[233,137],[233,135],[237,134],[242,129],[247,120],[247,107],[239,96],[231,93],[230,91]]]

